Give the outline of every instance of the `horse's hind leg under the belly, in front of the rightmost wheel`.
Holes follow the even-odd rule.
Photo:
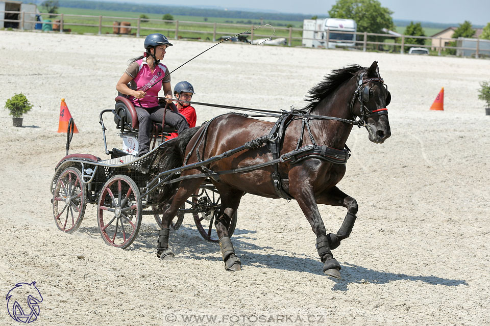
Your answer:
[[[218,217],[214,221],[214,226],[218,234],[219,248],[221,249],[223,261],[225,262],[225,269],[230,271],[241,270],[241,262],[235,254],[235,248],[233,248],[233,244],[228,235],[228,228],[244,192],[229,188],[223,184],[216,184],[216,188],[219,192],[222,205]]]

